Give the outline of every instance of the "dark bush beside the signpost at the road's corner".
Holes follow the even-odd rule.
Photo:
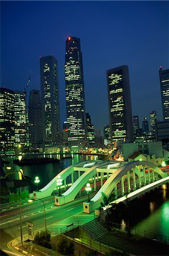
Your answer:
[[[47,231],[47,240],[45,231],[37,232],[33,240],[36,245],[41,245],[47,248],[52,248],[50,245],[50,232]]]

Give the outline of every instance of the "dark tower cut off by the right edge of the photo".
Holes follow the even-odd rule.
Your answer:
[[[160,90],[162,96],[163,119],[169,120],[169,69],[159,69]]]

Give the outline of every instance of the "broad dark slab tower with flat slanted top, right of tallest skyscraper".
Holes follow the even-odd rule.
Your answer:
[[[127,65],[107,71],[107,89],[111,140],[133,142],[132,105]]]

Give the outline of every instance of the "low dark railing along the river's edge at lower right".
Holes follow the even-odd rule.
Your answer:
[[[121,225],[120,224],[116,224],[116,223],[111,223],[112,228],[115,228],[121,232],[125,232],[126,230],[121,229]],[[169,244],[169,237],[168,236],[164,236],[163,234],[157,234],[157,233],[153,233],[153,232],[148,232],[147,230],[141,230],[141,229],[137,229],[137,228],[130,228],[130,233],[133,236],[138,236],[138,237],[143,237],[143,238],[147,238],[147,239],[151,239],[154,241],[159,241],[162,243],[168,243]]]

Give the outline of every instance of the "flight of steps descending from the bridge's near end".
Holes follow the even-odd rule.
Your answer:
[[[83,224],[81,228],[93,240],[99,240],[99,238],[104,237],[108,234],[108,230],[102,225],[102,223],[98,219]]]

